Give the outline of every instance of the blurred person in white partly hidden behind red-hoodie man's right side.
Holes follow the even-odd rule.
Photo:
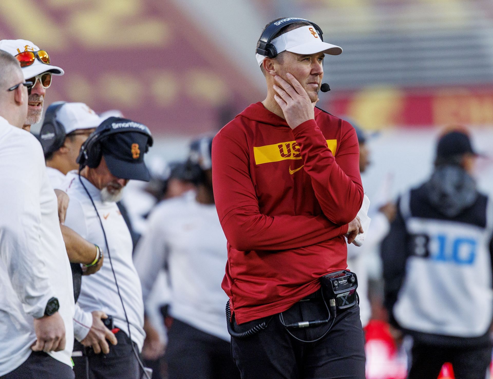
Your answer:
[[[359,172],[364,173],[371,163],[371,152],[367,144],[368,136],[356,123],[351,122],[359,144]],[[370,214],[372,221],[370,232],[365,235],[362,246],[348,244],[348,270],[358,276],[358,296],[361,324],[363,328],[368,324],[371,314],[371,305],[368,299],[368,273],[367,273],[367,254],[383,241],[390,229],[390,222],[395,218],[395,204],[389,202],[378,208],[374,214]],[[368,231],[366,231],[368,232]]]

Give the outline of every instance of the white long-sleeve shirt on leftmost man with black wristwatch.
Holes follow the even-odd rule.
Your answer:
[[[49,354],[70,367],[74,314],[69,259],[36,138],[0,117],[0,377],[19,367],[36,341],[33,318],[56,297],[65,349]]]

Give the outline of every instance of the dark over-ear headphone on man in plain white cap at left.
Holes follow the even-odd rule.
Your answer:
[[[57,121],[57,112],[65,103],[66,102],[52,103],[46,109],[43,125],[41,126],[37,137],[43,147],[45,158],[62,147],[65,138],[67,137],[64,126]]]

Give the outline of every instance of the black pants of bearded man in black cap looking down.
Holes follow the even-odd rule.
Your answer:
[[[111,345],[108,342],[108,354],[96,354],[91,347],[74,342],[73,351],[84,354],[73,357],[75,379],[141,379],[142,370],[132,350],[134,345],[135,351],[139,352],[137,345],[121,330],[115,337],[118,343]]]

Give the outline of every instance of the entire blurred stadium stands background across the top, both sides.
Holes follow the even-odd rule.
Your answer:
[[[326,58],[319,103],[335,115],[379,130],[493,125],[491,0],[2,0],[0,35],[32,39],[66,70],[48,103],[121,109],[186,138],[263,99],[255,42],[295,15],[344,49]]]

